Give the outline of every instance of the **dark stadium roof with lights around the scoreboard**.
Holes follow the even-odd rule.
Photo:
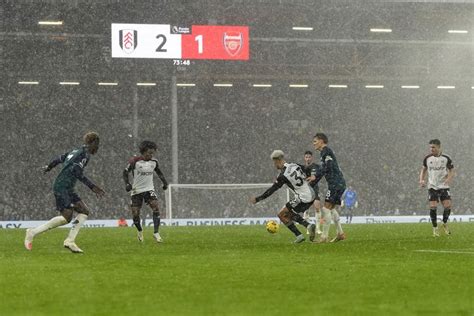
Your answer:
[[[2,69],[14,82],[159,81],[174,73],[193,81],[471,84],[474,72],[474,5],[467,1],[7,1],[0,20]],[[112,59],[111,23],[248,25],[250,61],[175,67]]]

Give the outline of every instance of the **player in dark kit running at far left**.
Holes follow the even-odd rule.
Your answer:
[[[84,168],[89,162],[90,155],[94,155],[99,150],[99,136],[94,132],[89,132],[84,136],[84,145],[67,152],[53,159],[47,166],[43,168],[44,172],[63,164],[63,169],[56,177],[53,185],[54,197],[56,199],[57,210],[60,216],[53,217],[47,223],[33,229],[26,230],[25,247],[27,250],[33,248],[33,238],[47,230],[65,225],[72,220],[74,212],[78,215],[73,221],[73,226],[68,237],[64,240],[64,247],[74,253],[82,253],[83,251],[76,245],[75,239],[79,230],[89,215],[89,208],[81,201],[81,198],[74,192],[77,180],[88,186],[97,197],[102,197],[105,192],[100,187],[92,183],[84,174]]]

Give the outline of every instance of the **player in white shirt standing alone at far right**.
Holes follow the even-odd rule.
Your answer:
[[[425,178],[428,174],[428,196],[430,200],[430,218],[433,225],[433,236],[438,237],[437,208],[438,203],[444,207],[443,229],[447,235],[451,232],[448,228],[448,219],[451,214],[451,193],[449,186],[454,177],[453,161],[448,155],[441,151],[441,142],[439,139],[430,141],[431,154],[423,160],[423,168],[420,172],[420,186],[425,187]]]

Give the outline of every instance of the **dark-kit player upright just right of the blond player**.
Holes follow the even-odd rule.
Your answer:
[[[316,181],[320,181],[323,177],[326,178],[328,184],[328,191],[324,206],[322,209],[322,217],[324,220],[323,234],[321,235],[320,243],[328,242],[329,227],[331,225],[331,217],[336,225],[337,236],[331,240],[336,242],[346,239],[346,235],[342,230],[339,213],[335,209],[336,205],[341,205],[342,195],[346,190],[346,181],[342,175],[336,156],[331,148],[327,146],[328,137],[326,134],[317,133],[313,138],[313,145],[316,150],[321,152],[321,169],[316,174]]]

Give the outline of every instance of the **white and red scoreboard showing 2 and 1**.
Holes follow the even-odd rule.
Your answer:
[[[249,28],[113,23],[112,57],[248,60]]]

